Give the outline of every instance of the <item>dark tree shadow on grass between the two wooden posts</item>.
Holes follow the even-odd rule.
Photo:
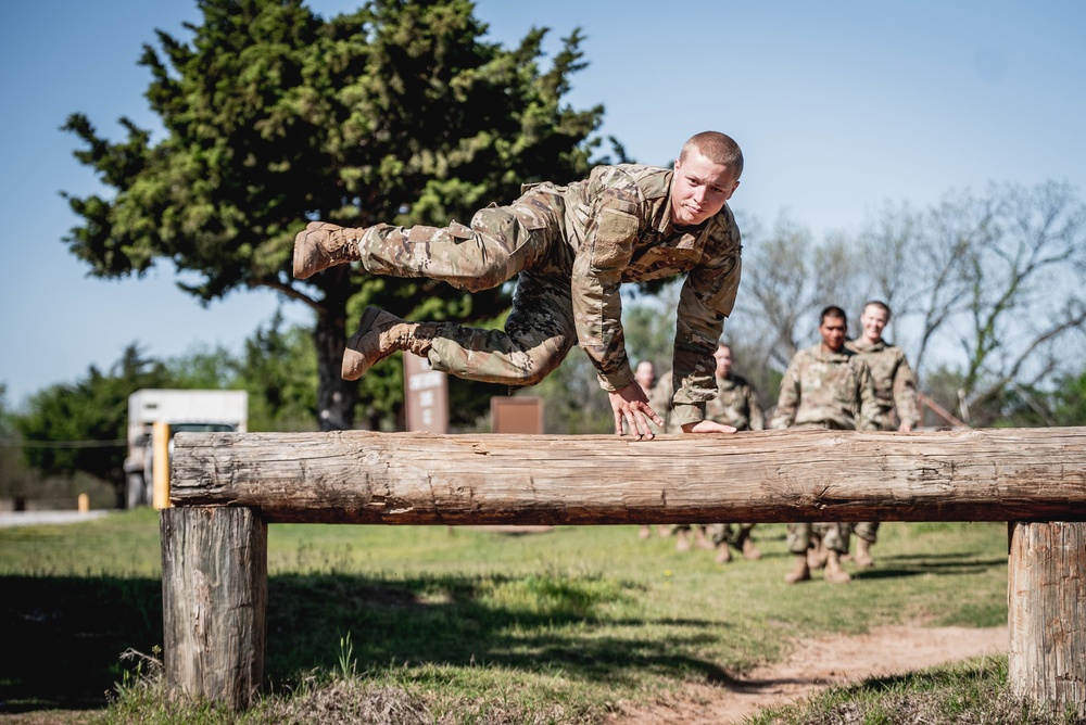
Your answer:
[[[558,669],[569,677],[615,685],[645,673],[727,677],[716,664],[689,656],[717,640],[727,625],[699,619],[603,619],[602,605],[637,596],[637,590],[613,581],[596,584],[591,577],[547,575],[275,576],[268,584],[268,675],[289,682],[314,667],[337,669],[340,638],[350,632],[359,670],[392,663],[487,664]],[[491,595],[500,587],[514,589],[513,598],[530,606],[494,605]],[[657,624],[690,634],[671,633],[665,647],[658,631],[644,629]]]

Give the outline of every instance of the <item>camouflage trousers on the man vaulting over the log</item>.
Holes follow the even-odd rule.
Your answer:
[[[438,323],[428,357],[434,370],[458,378],[532,385],[577,344],[564,215],[561,195],[542,185],[509,206],[479,211],[470,226],[370,227],[358,251],[371,274],[441,280],[471,292],[519,276],[504,330]]]

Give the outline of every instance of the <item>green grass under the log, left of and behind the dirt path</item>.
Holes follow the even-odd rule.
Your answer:
[[[370,722],[341,712],[348,698],[402,722],[603,722],[618,700],[727,683],[796,638],[1007,621],[1003,524],[883,524],[877,567],[847,586],[786,585],[783,525],[755,529],[762,560],[727,567],[636,533],[272,525],[270,695],[245,717]],[[165,707],[161,679],[134,674],[149,663],[121,659],[162,645],[160,576],[152,511],[0,530],[0,712],[103,708],[110,691],[105,722],[232,722]]]

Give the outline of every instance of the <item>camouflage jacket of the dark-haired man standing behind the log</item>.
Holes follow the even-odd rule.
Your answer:
[[[829,353],[818,343],[792,358],[770,428],[884,429],[871,369],[847,347]]]

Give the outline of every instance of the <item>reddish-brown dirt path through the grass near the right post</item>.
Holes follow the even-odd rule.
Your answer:
[[[892,626],[860,636],[798,643],[787,661],[733,685],[692,685],[678,701],[628,708],[616,725],[727,725],[762,708],[798,700],[829,685],[1007,652],[1007,627]]]

